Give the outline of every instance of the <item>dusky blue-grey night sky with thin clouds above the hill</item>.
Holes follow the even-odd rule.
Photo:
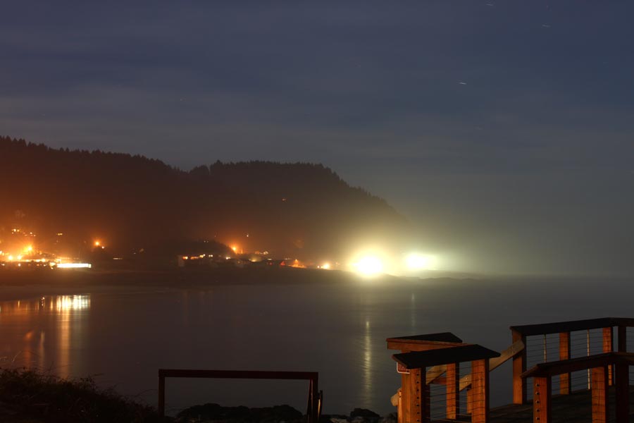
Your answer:
[[[5,2],[0,133],[330,166],[445,269],[634,274],[634,2]]]

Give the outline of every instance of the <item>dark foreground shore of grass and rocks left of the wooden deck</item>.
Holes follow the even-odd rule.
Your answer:
[[[0,368],[2,423],[305,423],[290,405],[223,407],[194,405],[175,417],[160,417],[156,408],[99,388],[91,378],[63,379],[30,369]],[[349,415],[322,415],[320,423],[397,423],[395,413],[381,417],[363,408]]]

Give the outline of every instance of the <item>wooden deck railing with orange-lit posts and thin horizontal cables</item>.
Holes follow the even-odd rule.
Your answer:
[[[575,401],[592,398],[593,423],[627,422],[633,330],[634,319],[623,318],[511,326],[513,343],[502,353],[463,343],[452,333],[388,338],[389,349],[401,350],[392,357],[404,373],[392,404],[399,423],[489,422],[488,373],[512,360],[514,403],[532,401],[533,421],[551,421],[545,405],[553,395],[575,393]],[[491,355],[476,359],[469,348]],[[611,405],[616,412],[609,412],[610,386],[616,387]]]

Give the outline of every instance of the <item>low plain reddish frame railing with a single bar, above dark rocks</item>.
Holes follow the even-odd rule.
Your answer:
[[[159,369],[159,415],[165,415],[165,379],[168,377],[206,379],[278,379],[309,381],[306,417],[308,423],[318,423],[321,416],[323,392],[318,390],[317,372],[256,372],[244,370]]]

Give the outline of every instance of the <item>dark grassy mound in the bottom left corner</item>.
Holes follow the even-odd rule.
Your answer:
[[[147,405],[97,387],[29,369],[0,369],[0,420],[7,423],[168,422]]]

